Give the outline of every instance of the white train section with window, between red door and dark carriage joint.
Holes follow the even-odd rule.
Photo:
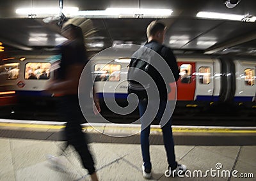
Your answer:
[[[196,63],[196,101],[212,101],[214,92],[213,62]]]

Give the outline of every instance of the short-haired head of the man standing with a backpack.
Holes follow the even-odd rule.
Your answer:
[[[166,26],[162,22],[152,21],[147,27],[148,41],[156,40],[163,43]]]

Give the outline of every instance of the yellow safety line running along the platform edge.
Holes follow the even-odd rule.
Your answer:
[[[0,126],[3,127],[24,127],[24,128],[39,128],[39,129],[62,129],[65,126],[63,125],[49,125],[49,124],[22,124],[22,123],[4,123],[0,122]],[[138,130],[140,131],[140,127],[118,127],[118,126],[85,126],[83,129],[99,129],[104,131],[111,130],[111,129],[119,129],[119,130]],[[161,128],[154,128],[150,129],[151,131],[161,132]],[[174,133],[256,133],[255,129],[223,129],[223,128],[200,128],[200,127],[173,127]]]

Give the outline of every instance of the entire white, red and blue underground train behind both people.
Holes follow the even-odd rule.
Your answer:
[[[1,106],[39,103],[54,99],[44,91],[45,83],[54,78],[59,55],[27,56],[3,59],[0,64]],[[127,57],[92,61],[100,103],[115,92],[117,101],[127,100]],[[180,78],[177,83],[177,106],[199,107],[214,103],[249,105],[255,108],[255,68],[253,59],[177,55]],[[170,84],[172,87],[172,84]],[[173,98],[172,92],[168,95]],[[47,105],[47,103],[45,103]]]

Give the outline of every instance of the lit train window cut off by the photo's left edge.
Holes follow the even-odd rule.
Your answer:
[[[13,80],[19,77],[20,63],[7,63],[0,66],[0,75],[5,75],[6,79]]]

